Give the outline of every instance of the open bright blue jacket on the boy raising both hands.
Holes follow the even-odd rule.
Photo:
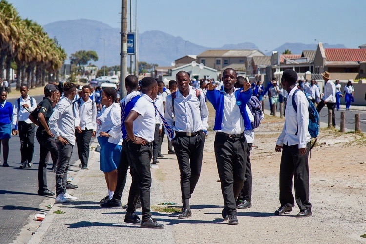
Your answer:
[[[252,96],[252,89],[249,88],[249,90],[245,92],[240,92],[241,90],[243,90],[243,88],[235,91],[235,98],[237,101],[240,101],[239,109],[244,120],[245,130],[251,130],[252,126],[250,124],[249,116],[246,112],[246,104]],[[223,122],[224,113],[224,93],[218,90],[208,90],[207,99],[211,102],[212,106],[216,110],[214,130],[221,130],[221,123]]]

